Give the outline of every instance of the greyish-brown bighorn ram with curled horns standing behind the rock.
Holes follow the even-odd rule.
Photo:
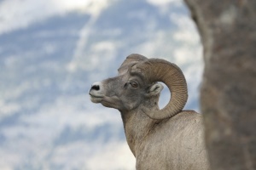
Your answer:
[[[182,111],[188,91],[177,65],[131,54],[118,71],[118,77],[92,84],[90,100],[120,111],[137,169],[209,169],[201,114]],[[158,82],[172,93],[161,110]]]

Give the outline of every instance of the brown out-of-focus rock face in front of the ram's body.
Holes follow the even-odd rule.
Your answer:
[[[201,34],[212,170],[256,169],[256,1],[185,0]]]

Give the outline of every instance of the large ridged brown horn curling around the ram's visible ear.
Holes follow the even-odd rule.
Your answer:
[[[183,110],[188,99],[188,88],[180,68],[165,59],[147,59],[134,65],[132,71],[140,72],[148,82],[164,82],[171,91],[169,103],[160,111],[144,111],[153,119],[175,116]]]

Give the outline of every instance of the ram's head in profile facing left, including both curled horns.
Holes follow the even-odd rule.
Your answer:
[[[159,111],[151,111],[158,105],[164,82],[171,91],[169,103]],[[141,108],[153,119],[172,117],[183,110],[188,90],[183,72],[164,59],[148,59],[139,54],[129,55],[119,68],[117,77],[93,83],[90,99],[119,111]],[[141,107],[142,106],[142,107]]]

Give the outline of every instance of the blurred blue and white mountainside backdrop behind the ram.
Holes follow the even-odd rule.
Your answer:
[[[201,51],[182,0],[0,1],[0,169],[135,169],[119,111],[90,85],[129,54],[167,59],[198,111]]]

